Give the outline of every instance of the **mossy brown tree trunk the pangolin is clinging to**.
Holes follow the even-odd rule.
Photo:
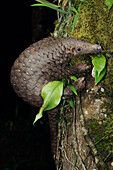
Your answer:
[[[65,105],[65,113],[62,113],[63,109],[61,109],[63,119],[58,124],[57,170],[112,169],[113,58],[107,54],[107,48],[110,49],[109,54],[112,54],[113,31],[110,30],[108,33],[106,27],[113,28],[113,7],[108,10],[104,2],[104,0],[102,2],[94,0],[93,2],[82,3],[79,19],[74,29],[72,27],[75,13],[68,16],[58,15],[58,23],[53,35],[79,37],[94,43],[99,40],[107,57],[107,73],[103,81],[95,86],[95,80],[91,76],[90,70],[86,75],[85,90],[73,97],[74,108]],[[79,4],[80,2],[76,4],[76,9]],[[60,5],[63,10],[66,10],[73,5],[73,2],[62,1]],[[89,9],[90,11],[92,9],[93,12],[88,13]],[[86,11],[88,12],[85,13]],[[89,21],[87,21],[88,17],[90,18]],[[101,20],[95,25],[96,17],[101,17]],[[106,20],[104,21],[104,19]],[[106,27],[104,22],[107,24]],[[98,27],[99,24],[100,27]],[[94,31],[91,32],[91,30]],[[102,34],[104,34],[103,39]],[[79,62],[83,62],[83,58]],[[91,66],[90,59],[87,62]],[[72,60],[72,63],[78,64],[78,59]]]

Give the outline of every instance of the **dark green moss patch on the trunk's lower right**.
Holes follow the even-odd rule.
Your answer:
[[[106,160],[113,156],[113,115],[99,124],[97,121],[89,123],[89,132],[98,151]]]

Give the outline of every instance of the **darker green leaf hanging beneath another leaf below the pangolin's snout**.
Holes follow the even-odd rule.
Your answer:
[[[100,80],[104,77],[106,73],[106,68],[104,68],[98,76],[98,71],[95,69],[95,85],[97,85]]]

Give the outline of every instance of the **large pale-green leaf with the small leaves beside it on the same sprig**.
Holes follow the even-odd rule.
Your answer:
[[[71,76],[70,79],[78,81],[78,79],[75,76]],[[33,124],[35,124],[35,122],[43,116],[43,111],[51,110],[56,106],[58,106],[63,94],[63,88],[65,86],[66,86],[66,79],[62,79],[62,81],[49,82],[42,88],[41,96],[44,102],[39,110],[39,113],[36,115]],[[77,95],[77,91],[75,87],[72,84],[70,84],[70,81],[67,87],[70,87],[70,89],[75,93],[75,95]],[[69,104],[71,107],[74,106],[73,101],[71,99],[69,99]]]

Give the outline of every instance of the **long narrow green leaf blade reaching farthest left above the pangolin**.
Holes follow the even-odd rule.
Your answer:
[[[61,12],[61,13],[63,13],[63,14],[68,14],[68,12],[63,11],[62,9],[59,9],[59,8],[57,8],[57,7],[53,6],[53,5],[49,5],[49,4],[33,4],[33,5],[31,5],[31,6],[45,6],[45,7],[54,9],[54,10],[56,10],[56,11],[58,11],[58,12]]]

